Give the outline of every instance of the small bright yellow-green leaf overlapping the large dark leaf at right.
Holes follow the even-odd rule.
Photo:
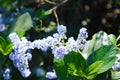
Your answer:
[[[101,69],[103,61],[96,61],[88,66],[84,72],[87,79],[93,79],[97,76],[99,70]]]

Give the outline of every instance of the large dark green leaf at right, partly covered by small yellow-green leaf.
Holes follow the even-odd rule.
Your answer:
[[[103,61],[99,73],[110,69],[116,60],[116,47],[114,45],[102,46],[87,58],[87,67],[96,61]]]

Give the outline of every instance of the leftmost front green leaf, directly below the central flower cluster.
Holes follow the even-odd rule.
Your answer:
[[[67,80],[67,70],[64,65],[64,60],[63,59],[54,59],[54,67],[55,67],[55,71],[58,76],[58,79]]]

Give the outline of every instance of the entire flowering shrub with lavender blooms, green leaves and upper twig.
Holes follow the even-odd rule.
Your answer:
[[[99,31],[87,40],[86,27],[80,28],[77,37],[68,36],[68,27],[59,24],[59,6],[38,11],[40,15],[36,12],[37,19],[28,12],[16,12],[10,16],[9,27],[3,24],[6,20],[0,14],[0,80],[120,78],[119,37]],[[57,24],[43,27],[43,19],[52,12]]]

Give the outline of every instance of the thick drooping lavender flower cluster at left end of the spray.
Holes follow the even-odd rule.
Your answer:
[[[28,61],[32,59],[32,55],[27,50],[33,49],[31,42],[27,41],[25,37],[20,40],[16,33],[11,33],[9,37],[14,44],[14,52],[9,55],[9,58],[13,61],[14,66],[18,68],[21,75],[28,77],[31,74]]]

